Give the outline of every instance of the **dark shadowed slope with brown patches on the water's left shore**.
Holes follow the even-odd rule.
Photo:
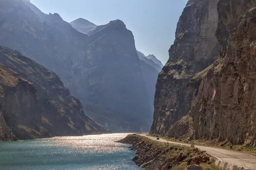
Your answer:
[[[0,140],[108,133],[58,76],[0,46]]]

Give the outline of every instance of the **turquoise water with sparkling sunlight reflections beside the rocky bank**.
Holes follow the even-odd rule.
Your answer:
[[[0,170],[142,170],[127,133],[0,142]]]

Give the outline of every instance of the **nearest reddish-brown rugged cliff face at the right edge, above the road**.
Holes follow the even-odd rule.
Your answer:
[[[221,58],[192,81],[196,139],[256,141],[256,1],[220,0],[216,35]]]

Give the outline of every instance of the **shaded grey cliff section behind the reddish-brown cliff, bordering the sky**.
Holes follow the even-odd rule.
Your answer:
[[[186,97],[187,84],[217,59],[217,3],[189,0],[184,8],[169,60],[158,75],[151,133],[167,135],[171,125],[188,113],[191,102]]]

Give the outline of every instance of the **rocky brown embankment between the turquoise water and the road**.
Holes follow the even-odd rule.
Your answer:
[[[185,170],[192,164],[207,170],[218,170],[205,151],[197,148],[157,142],[136,134],[128,135],[119,142],[132,145],[130,148],[136,151],[133,161],[146,170]]]

